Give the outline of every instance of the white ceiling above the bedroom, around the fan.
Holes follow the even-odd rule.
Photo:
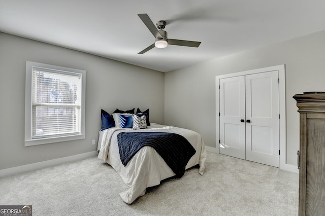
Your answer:
[[[200,47],[137,54],[154,43],[141,13]],[[324,0],[0,0],[2,32],[163,72],[324,29]]]

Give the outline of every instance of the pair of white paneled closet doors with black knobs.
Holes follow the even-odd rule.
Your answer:
[[[279,167],[278,70],[219,80],[220,154]]]

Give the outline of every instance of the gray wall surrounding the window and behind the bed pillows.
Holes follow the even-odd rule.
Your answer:
[[[86,70],[85,139],[24,147],[26,61]],[[91,140],[98,141],[101,109],[149,108],[150,121],[164,124],[158,71],[0,32],[0,75],[0,169],[96,151]]]

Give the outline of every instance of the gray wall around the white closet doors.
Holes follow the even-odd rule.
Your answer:
[[[215,77],[280,64],[286,79],[286,160],[296,165],[299,114],[292,97],[325,91],[325,31],[166,73],[165,124],[195,130],[215,148]]]

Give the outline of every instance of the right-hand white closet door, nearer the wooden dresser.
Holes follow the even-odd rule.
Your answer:
[[[278,71],[245,76],[246,160],[279,167]]]

